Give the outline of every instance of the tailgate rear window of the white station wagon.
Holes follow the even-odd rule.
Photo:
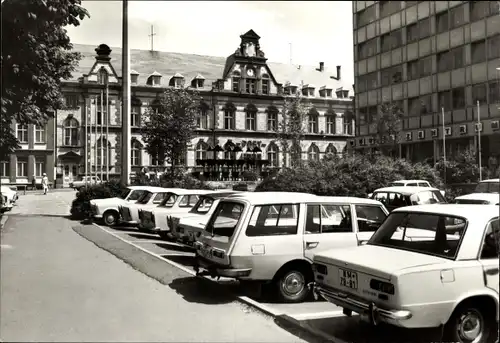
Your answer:
[[[231,238],[243,213],[243,205],[236,202],[220,202],[206,226],[213,235]]]

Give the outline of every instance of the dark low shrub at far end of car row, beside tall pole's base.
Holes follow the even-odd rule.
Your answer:
[[[118,181],[82,188],[76,193],[76,198],[71,204],[71,217],[77,220],[87,219],[91,215],[90,200],[117,197],[123,191],[124,189]]]

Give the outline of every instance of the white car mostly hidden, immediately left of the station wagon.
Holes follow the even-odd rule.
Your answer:
[[[198,202],[188,213],[173,213],[168,222],[172,237],[184,243],[192,244],[205,228],[217,204],[224,198],[238,196],[242,192],[222,191],[201,195]]]

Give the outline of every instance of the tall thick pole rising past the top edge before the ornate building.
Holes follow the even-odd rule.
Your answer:
[[[122,9],[122,153],[121,183],[130,183],[130,56],[128,46],[128,0]]]

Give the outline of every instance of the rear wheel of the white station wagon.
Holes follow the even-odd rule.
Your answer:
[[[286,303],[303,302],[309,295],[310,274],[301,266],[291,266],[277,277],[278,296]]]

